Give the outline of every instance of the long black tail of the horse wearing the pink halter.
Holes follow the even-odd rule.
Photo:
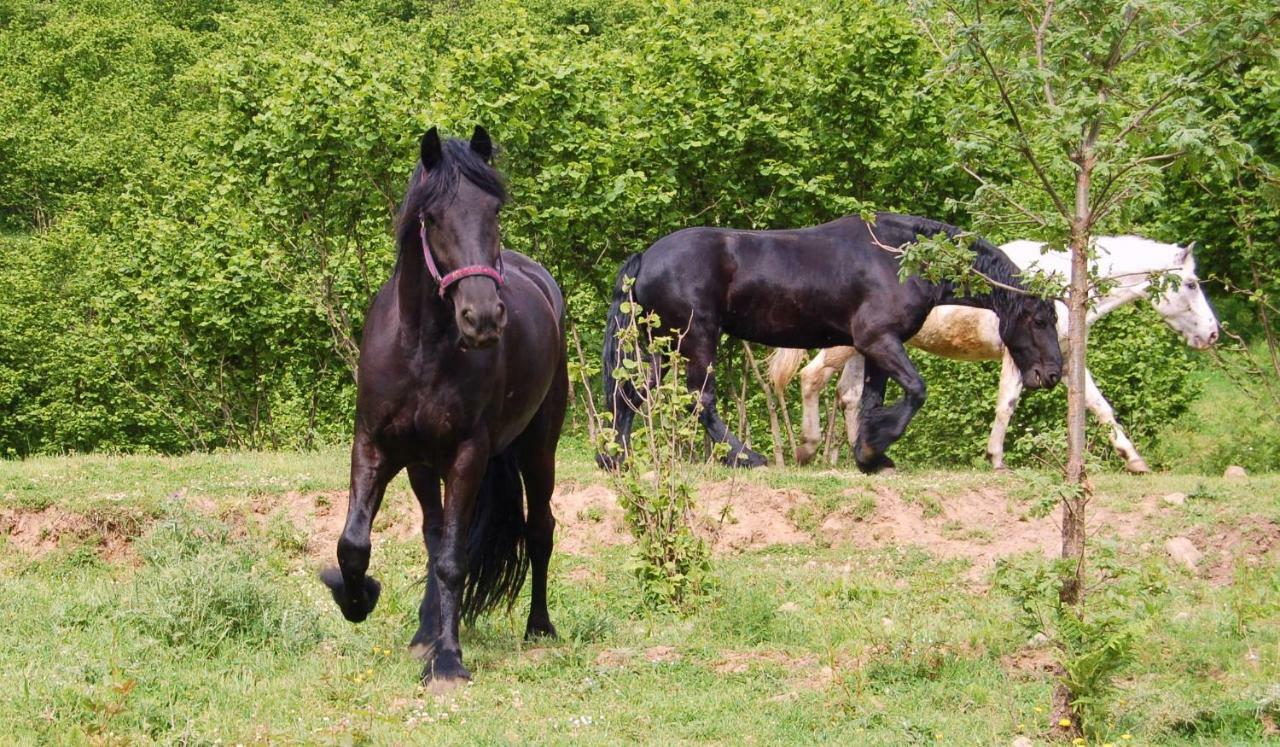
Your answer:
[[[507,609],[515,604],[529,570],[525,533],[525,489],[516,448],[509,446],[489,459],[476,494],[462,585],[462,619],[467,624],[499,604],[506,602]]]

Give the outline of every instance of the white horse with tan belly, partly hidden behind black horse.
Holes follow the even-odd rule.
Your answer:
[[[1194,242],[1188,247],[1162,244],[1140,237],[1098,237],[1094,272],[1110,278],[1114,287],[1096,299],[1089,310],[1089,326],[1108,312],[1148,298],[1165,324],[1180,333],[1187,344],[1203,350],[1217,340],[1217,317],[1210,307],[1199,280],[1196,278],[1196,258],[1192,256]],[[1015,265],[1024,270],[1041,270],[1046,274],[1060,272],[1070,275],[1071,256],[1065,251],[1042,253],[1043,244],[1036,242],[1010,242],[1001,247]],[[1153,297],[1151,276],[1153,274],[1174,274],[1179,278],[1176,288],[1164,295]],[[987,458],[996,469],[1005,468],[1005,431],[1009,420],[1018,407],[1023,391],[1023,381],[1018,367],[1000,342],[995,313],[964,306],[936,307],[924,326],[908,344],[922,350],[954,358],[956,361],[995,361],[1002,358],[1000,370],[1000,394],[996,398],[996,421],[991,426],[987,441]],[[1066,345],[1066,306],[1057,303],[1057,331],[1062,345]],[[786,385],[804,362],[805,352],[780,348],[769,358],[769,379],[780,400]],[[796,460],[801,464],[813,459],[822,440],[822,426],[818,414],[818,395],[836,371],[844,368],[838,391],[845,409],[845,427],[849,443],[858,439],[858,416],[861,409],[863,357],[854,348],[838,347],[820,350],[804,367],[800,377],[800,391],[804,397],[804,418],[801,421],[803,441],[796,448]],[[1148,472],[1147,463],[1134,448],[1124,429],[1116,422],[1115,411],[1098,391],[1097,384],[1088,370],[1084,371],[1084,395],[1091,412],[1098,422],[1110,427],[1111,445],[1125,460],[1129,472]]]

